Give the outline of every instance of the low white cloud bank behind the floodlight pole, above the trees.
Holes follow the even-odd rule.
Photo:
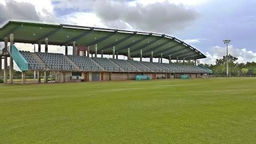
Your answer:
[[[234,57],[238,58],[237,62],[239,63],[246,63],[247,61],[256,61],[256,52],[246,50],[245,48],[238,49],[233,45],[229,45],[228,54],[231,54]],[[207,58],[202,59],[201,61],[204,63],[214,64],[216,59],[220,59],[226,55],[226,47],[213,46],[211,51],[206,52],[205,55]]]

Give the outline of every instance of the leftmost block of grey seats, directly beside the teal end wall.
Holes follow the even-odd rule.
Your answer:
[[[20,53],[23,55],[23,57],[27,60],[29,69],[43,69],[44,63],[39,63],[33,53],[28,51],[20,51]]]

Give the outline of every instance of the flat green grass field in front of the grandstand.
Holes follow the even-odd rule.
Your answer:
[[[255,143],[256,78],[0,85],[0,143]]]

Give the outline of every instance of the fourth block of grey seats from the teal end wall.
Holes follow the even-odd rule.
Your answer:
[[[107,58],[92,58],[95,62],[105,69],[106,71],[123,71],[113,61]]]

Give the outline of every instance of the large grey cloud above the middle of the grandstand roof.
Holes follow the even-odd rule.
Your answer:
[[[182,4],[168,1],[134,6],[125,1],[96,1],[94,13],[111,28],[124,28],[127,25],[134,30],[174,33],[189,26],[199,14]]]

